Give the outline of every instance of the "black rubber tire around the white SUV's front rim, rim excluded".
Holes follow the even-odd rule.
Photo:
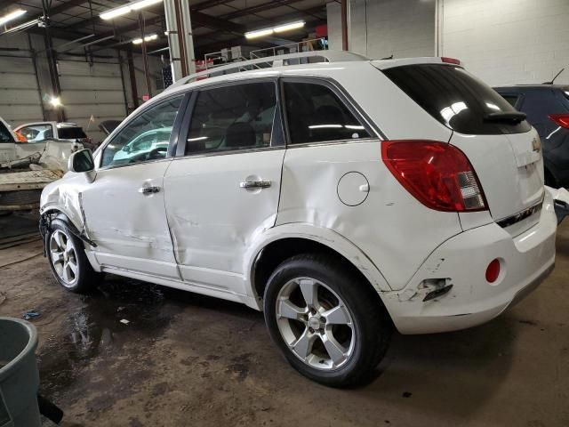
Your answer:
[[[66,238],[68,238],[73,247],[75,248],[76,262],[76,275],[74,279],[70,282],[66,282],[64,278],[60,276],[60,273],[56,269],[54,264],[51,248],[52,248],[52,236],[54,233],[62,232]],[[50,264],[50,269],[52,270],[53,277],[59,282],[61,286],[70,292],[76,294],[88,294],[95,289],[97,283],[100,281],[102,276],[101,273],[92,270],[91,263],[87,259],[87,255],[84,253],[84,244],[80,238],[71,233],[69,230],[68,223],[65,217],[58,216],[52,221],[52,226],[48,233],[47,239],[45,241],[45,252],[47,254],[47,259]]]

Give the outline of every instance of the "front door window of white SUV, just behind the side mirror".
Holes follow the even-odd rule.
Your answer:
[[[103,149],[101,167],[166,157],[183,95],[160,102],[135,117]]]

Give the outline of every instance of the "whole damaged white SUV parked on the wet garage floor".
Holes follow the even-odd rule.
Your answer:
[[[457,60],[325,55],[181,82],[77,152],[42,195],[60,284],[109,272],[243,302],[334,386],[370,377],[393,325],[475,326],[537,286],[557,222],[525,116]],[[116,162],[156,129],[167,150]]]

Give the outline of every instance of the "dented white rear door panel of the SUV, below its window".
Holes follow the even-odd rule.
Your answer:
[[[174,253],[184,280],[244,291],[244,254],[275,225],[284,148],[172,161],[164,179]]]

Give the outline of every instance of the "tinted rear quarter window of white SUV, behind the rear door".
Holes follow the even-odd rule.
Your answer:
[[[284,100],[292,144],[370,137],[328,86],[285,82]]]

